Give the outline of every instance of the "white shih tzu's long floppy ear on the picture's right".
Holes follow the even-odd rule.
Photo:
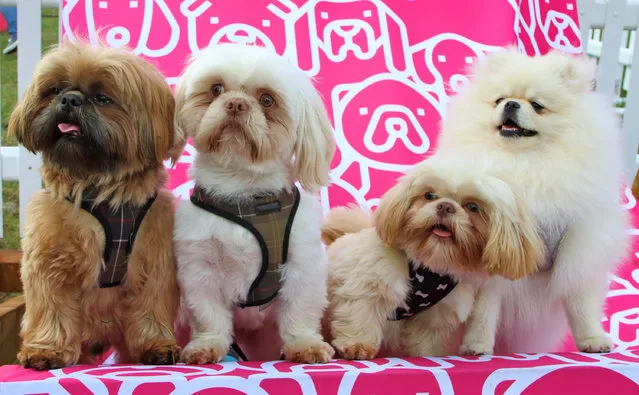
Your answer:
[[[304,85],[295,143],[295,170],[302,188],[315,192],[329,184],[335,139],[322,98],[310,80]]]

